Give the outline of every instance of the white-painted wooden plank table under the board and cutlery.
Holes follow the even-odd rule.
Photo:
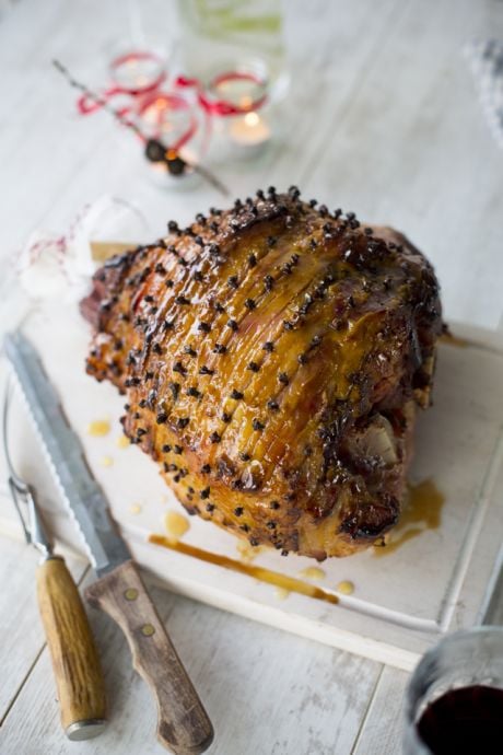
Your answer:
[[[63,230],[101,194],[134,202],[145,239],[220,199],[201,185],[161,190],[106,115],[79,119],[51,70],[84,80],[126,30],[118,2],[0,3],[2,265],[36,228]],[[152,37],[171,44],[172,4],[141,3]],[[236,196],[299,184],[330,206],[406,230],[434,262],[447,317],[501,324],[503,155],[461,58],[472,37],[503,37],[498,0],[316,0],[288,3],[294,89],[284,131],[261,160],[222,178]],[[3,474],[3,471],[2,471]],[[2,506],[5,503],[2,501]],[[36,555],[0,543],[0,752],[147,755],[156,744],[149,694],[115,626],[91,613],[110,706],[104,735],[69,743],[36,608]],[[71,564],[81,585],[90,578]],[[219,755],[393,755],[400,752],[407,674],[154,590],[209,713]]]

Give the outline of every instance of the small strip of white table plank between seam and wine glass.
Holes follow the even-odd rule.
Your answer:
[[[385,666],[353,755],[400,755],[403,695],[409,674]]]

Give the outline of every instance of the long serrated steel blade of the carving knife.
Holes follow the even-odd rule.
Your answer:
[[[130,558],[112,521],[108,501],[87,466],[82,444],[68,423],[59,396],[32,344],[17,332],[5,336],[4,349],[91,562],[98,576],[105,574]]]

